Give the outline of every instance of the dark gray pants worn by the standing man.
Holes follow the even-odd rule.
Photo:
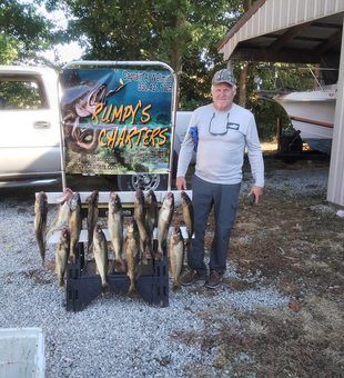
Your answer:
[[[208,218],[214,207],[215,231],[211,247],[210,269],[223,275],[226,268],[226,256],[231,231],[237,209],[241,183],[211,183],[192,177],[192,205],[194,211],[194,238],[192,249],[188,249],[188,265],[199,273],[206,273],[204,263],[204,236]]]

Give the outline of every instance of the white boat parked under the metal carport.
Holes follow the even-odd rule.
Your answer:
[[[301,70],[301,68],[297,68]],[[270,100],[280,103],[289,115],[292,127],[300,138],[312,149],[331,155],[335,105],[337,99],[337,83],[326,83],[314,73],[318,68],[304,68],[312,72],[316,88],[314,90],[297,90],[283,87],[275,90],[259,90]],[[337,71],[336,69],[323,69]],[[261,84],[260,78],[255,82]],[[264,99],[264,96],[261,97]],[[266,99],[266,98],[265,98]]]

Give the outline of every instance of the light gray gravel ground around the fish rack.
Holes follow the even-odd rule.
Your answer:
[[[266,188],[295,195],[300,190],[325,196],[328,167],[274,170],[266,175]],[[242,195],[249,181],[244,181]],[[49,191],[49,189],[45,189]],[[81,312],[65,310],[65,291],[53,271],[54,247],[47,250],[49,269],[41,260],[33,233],[32,200],[17,200],[16,191],[0,198],[0,325],[1,328],[40,327],[45,338],[45,377],[230,377],[213,366],[214,348],[202,350],[176,338],[181,331],[215,332],[229,327],[236,309],[254,311],[256,306],[287,306],[290,298],[263,285],[256,290],[234,291],[222,286],[205,290],[171,291],[169,307],[155,308],[125,294],[97,298]],[[49,221],[54,217],[50,206]],[[231,261],[225,277],[241,279]],[[198,286],[202,286],[201,282]],[[209,310],[210,317],[204,318]],[[214,310],[214,311],[212,311]],[[220,314],[220,315],[219,315]],[[230,367],[229,367],[230,368]]]

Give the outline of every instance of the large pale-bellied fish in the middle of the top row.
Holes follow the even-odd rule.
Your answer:
[[[120,196],[117,192],[111,191],[108,207],[108,229],[111,238],[111,246],[114,252],[114,271],[125,271],[125,263],[122,259],[123,209]]]

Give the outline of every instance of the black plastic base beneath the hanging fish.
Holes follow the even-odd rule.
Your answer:
[[[156,250],[156,240],[153,242]],[[125,272],[108,275],[110,292],[125,292],[130,279]],[[156,307],[169,306],[169,262],[164,253],[163,260],[148,260],[141,265],[141,276],[136,279],[140,297]],[[102,294],[101,278],[95,273],[95,261],[84,259],[83,242],[75,248],[75,263],[67,267],[67,310],[81,311]]]

